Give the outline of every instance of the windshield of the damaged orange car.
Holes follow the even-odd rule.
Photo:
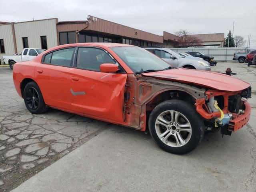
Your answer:
[[[164,70],[170,65],[158,56],[139,47],[111,47],[111,49],[136,73]]]

